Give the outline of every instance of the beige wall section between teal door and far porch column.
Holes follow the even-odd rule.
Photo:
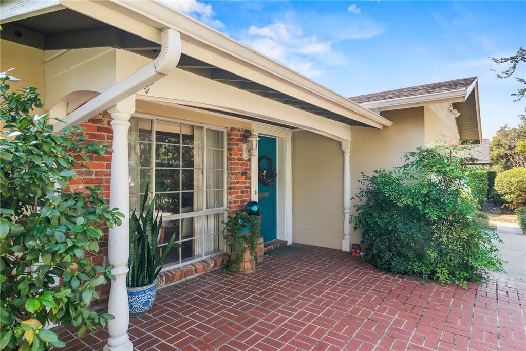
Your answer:
[[[307,132],[292,133],[292,225],[295,243],[341,249],[341,144]]]

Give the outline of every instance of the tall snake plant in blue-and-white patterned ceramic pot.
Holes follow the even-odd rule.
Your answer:
[[[130,316],[144,315],[154,304],[157,276],[163,268],[163,261],[173,247],[181,247],[174,243],[173,234],[162,256],[158,256],[158,239],[163,225],[163,215],[159,211],[154,216],[155,196],[148,201],[149,186],[146,187],[143,202],[140,205],[139,216],[135,209],[130,216],[129,232],[129,272],[126,277]]]

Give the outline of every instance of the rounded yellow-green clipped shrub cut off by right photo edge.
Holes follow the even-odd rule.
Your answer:
[[[515,167],[495,178],[495,189],[511,208],[526,206],[526,167]]]

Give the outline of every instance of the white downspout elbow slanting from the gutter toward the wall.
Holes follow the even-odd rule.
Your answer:
[[[130,74],[122,81],[100,93],[84,105],[62,119],[65,123],[55,123],[55,132],[106,111],[124,98],[137,93],[170,73],[181,57],[181,36],[175,29],[168,28],[161,32],[161,49],[159,55],[143,68]]]

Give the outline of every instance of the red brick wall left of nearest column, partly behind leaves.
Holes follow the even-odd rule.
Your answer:
[[[83,133],[87,137],[88,142],[97,143],[108,143],[112,146],[113,132],[110,122],[112,117],[107,112],[98,114],[97,116],[89,119],[86,123],[81,126],[86,130]],[[109,183],[110,173],[112,168],[112,154],[106,153],[103,156],[95,157],[89,155],[89,161],[84,161],[82,157],[78,157],[77,161],[81,164],[86,165],[88,168],[78,167],[77,177],[69,182],[68,187],[65,189],[69,191],[86,191],[86,185],[95,186],[99,185],[104,193],[104,198],[109,203]],[[104,237],[99,242],[99,252],[97,255],[90,256],[92,263],[102,266],[104,264],[104,256],[108,255],[108,228],[103,227]],[[104,301],[109,296],[110,284],[99,286],[97,289],[99,297]]]

